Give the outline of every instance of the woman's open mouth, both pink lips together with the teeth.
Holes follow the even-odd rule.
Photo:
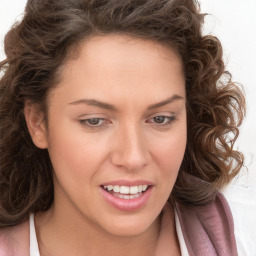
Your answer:
[[[121,211],[135,211],[150,198],[153,185],[148,181],[118,181],[100,186],[104,199]]]

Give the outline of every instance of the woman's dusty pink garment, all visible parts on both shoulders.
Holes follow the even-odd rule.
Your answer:
[[[237,256],[233,218],[224,196],[206,206],[175,204],[189,256]],[[156,256],[172,255],[172,209],[164,207]],[[0,256],[29,255],[29,221],[0,230]]]

